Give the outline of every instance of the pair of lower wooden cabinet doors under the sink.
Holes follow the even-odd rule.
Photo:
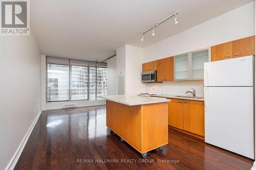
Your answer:
[[[204,102],[170,99],[168,125],[189,133],[204,136]]]

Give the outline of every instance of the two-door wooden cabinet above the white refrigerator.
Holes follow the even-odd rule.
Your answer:
[[[255,54],[255,36],[211,46],[211,61]]]

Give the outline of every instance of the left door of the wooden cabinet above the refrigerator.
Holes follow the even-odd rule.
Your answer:
[[[211,61],[232,58],[232,41],[211,46]]]

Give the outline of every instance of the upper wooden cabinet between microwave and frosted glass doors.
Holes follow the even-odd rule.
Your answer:
[[[157,81],[174,81],[174,57],[168,57],[156,61]]]

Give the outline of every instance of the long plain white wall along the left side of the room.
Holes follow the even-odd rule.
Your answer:
[[[0,169],[13,165],[41,110],[40,54],[30,34],[0,37]]]

